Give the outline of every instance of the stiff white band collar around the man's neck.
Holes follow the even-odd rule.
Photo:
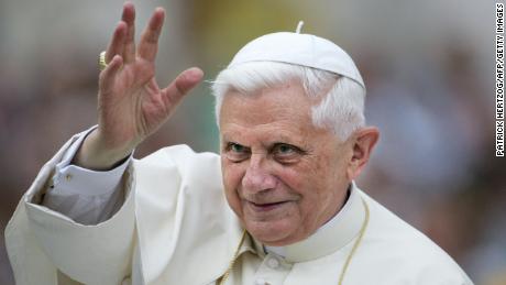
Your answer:
[[[285,246],[264,246],[265,250],[283,256],[287,262],[305,262],[331,254],[346,245],[359,234],[365,218],[360,189],[354,182],[350,191],[341,210],[309,238]],[[255,243],[255,248],[262,246],[258,246],[256,240]]]

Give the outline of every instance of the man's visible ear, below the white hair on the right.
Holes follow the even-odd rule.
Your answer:
[[[352,157],[348,165],[348,178],[353,180],[367,164],[371,153],[380,139],[380,130],[375,127],[365,127],[352,135]]]

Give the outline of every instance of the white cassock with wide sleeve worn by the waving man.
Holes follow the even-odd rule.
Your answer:
[[[243,232],[224,198],[219,156],[178,145],[133,161],[120,209],[82,224],[40,205],[77,138],[42,168],[7,227],[16,284],[215,284]],[[265,248],[246,235],[227,284],[338,284],[365,207],[369,223],[343,284],[472,284],[438,245],[354,184],[339,213],[307,240]]]

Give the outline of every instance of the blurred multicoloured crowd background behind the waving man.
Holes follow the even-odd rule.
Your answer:
[[[167,10],[157,58],[165,86],[199,66],[212,80],[246,42],[295,31],[354,58],[380,145],[358,184],[448,251],[476,284],[506,284],[505,160],[494,152],[492,1],[133,1],[143,28]],[[0,228],[45,161],[96,123],[97,56],[122,1],[0,1]],[[138,29],[139,31],[139,29]],[[140,32],[138,32],[138,35]],[[136,151],[186,143],[217,151],[200,85]],[[76,256],[77,257],[77,256]],[[0,284],[14,284],[0,237]]]

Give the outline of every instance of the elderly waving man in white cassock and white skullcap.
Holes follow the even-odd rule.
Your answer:
[[[41,171],[7,229],[18,284],[472,284],[354,179],[378,131],[352,59],[308,34],[246,44],[213,83],[220,156],[135,161],[202,73],[158,88],[164,11],[138,46],[127,3],[102,64],[98,127]]]

